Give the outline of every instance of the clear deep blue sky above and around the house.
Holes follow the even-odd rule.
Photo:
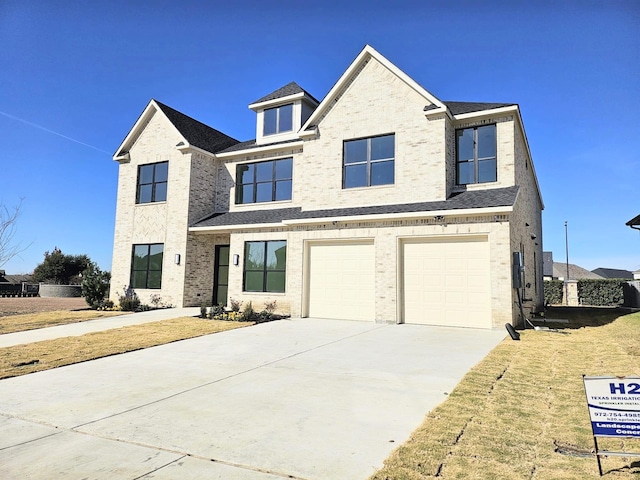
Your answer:
[[[558,5],[559,4],[559,5]],[[112,154],[156,98],[239,140],[254,100],[322,99],[365,44],[442,100],[521,108],[556,261],[640,268],[640,2],[0,0],[0,204],[23,198],[4,266],[45,250],[111,268]],[[266,6],[268,5],[268,6]]]

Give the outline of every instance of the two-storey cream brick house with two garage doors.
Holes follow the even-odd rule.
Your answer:
[[[366,46],[247,142],[151,100],[118,147],[117,300],[502,328],[542,308],[542,198],[517,104],[443,102]],[[514,253],[519,255],[514,255]]]

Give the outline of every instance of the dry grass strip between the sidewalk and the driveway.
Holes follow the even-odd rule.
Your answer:
[[[181,317],[0,348],[0,380],[249,325]]]

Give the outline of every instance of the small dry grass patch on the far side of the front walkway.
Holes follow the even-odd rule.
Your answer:
[[[122,313],[123,312],[98,312],[96,310],[56,310],[52,312],[0,316],[0,335],[84,322],[97,318],[113,317],[115,315],[122,315]]]

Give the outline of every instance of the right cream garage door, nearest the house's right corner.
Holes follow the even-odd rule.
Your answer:
[[[491,328],[485,237],[403,244],[405,323]]]

